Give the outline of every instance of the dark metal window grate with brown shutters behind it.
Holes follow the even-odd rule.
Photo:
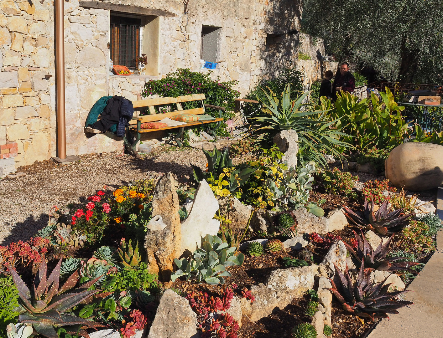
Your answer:
[[[136,69],[140,53],[140,19],[111,16],[109,54],[114,65]]]

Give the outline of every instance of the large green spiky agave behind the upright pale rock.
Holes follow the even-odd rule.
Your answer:
[[[291,100],[291,86],[287,84],[279,97],[271,89],[264,91],[266,99],[260,101],[263,109],[252,117],[249,130],[257,137],[261,146],[269,146],[274,136],[282,130],[295,130],[299,137],[299,157],[302,161],[316,161],[326,166],[323,153],[343,157],[337,147],[349,148],[350,144],[339,138],[348,136],[336,127],[339,119],[331,120],[327,111],[302,111],[303,100],[309,95],[304,93],[297,100]]]

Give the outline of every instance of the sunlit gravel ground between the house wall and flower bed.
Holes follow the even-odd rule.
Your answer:
[[[189,175],[189,161],[206,165],[201,150],[162,146],[135,158],[121,153],[82,155],[81,161],[55,165],[43,161],[20,168],[27,176],[0,180],[0,245],[27,240],[47,225],[53,205],[83,204],[104,185],[117,188],[149,171]]]

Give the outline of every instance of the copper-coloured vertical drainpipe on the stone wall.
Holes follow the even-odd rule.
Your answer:
[[[64,0],[55,0],[55,90],[57,98],[57,156],[66,158]]]

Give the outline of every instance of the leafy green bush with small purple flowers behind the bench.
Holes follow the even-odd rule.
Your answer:
[[[238,82],[228,81],[220,82],[220,77],[214,81],[211,79],[212,71],[206,73],[191,72],[190,69],[177,69],[176,72],[168,73],[166,77],[159,80],[150,80],[146,82],[142,96],[148,97],[157,94],[162,97],[205,94],[205,103],[213,104],[226,108],[222,112],[223,120],[226,121],[234,117],[233,108],[234,100],[240,96],[240,92],[233,89]],[[200,102],[182,102],[183,109],[198,108]],[[175,105],[171,105],[171,111],[176,110]],[[206,113],[218,117],[218,110],[206,108]],[[221,123],[221,126],[216,130],[220,136],[228,136],[226,131],[227,125]]]

